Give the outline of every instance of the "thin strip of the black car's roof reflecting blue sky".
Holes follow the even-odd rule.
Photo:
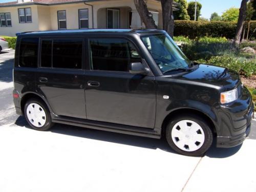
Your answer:
[[[155,33],[166,33],[163,30],[157,29],[73,29],[73,30],[53,30],[53,31],[29,31],[16,33],[16,36],[49,36],[49,35],[89,35],[89,34],[155,34]]]

